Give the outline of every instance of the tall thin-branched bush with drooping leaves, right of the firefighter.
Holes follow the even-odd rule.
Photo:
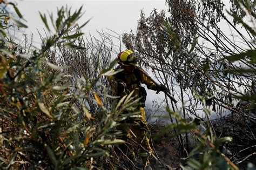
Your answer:
[[[166,4],[169,8],[166,12],[154,10],[147,18],[142,11],[136,33],[124,33],[123,42],[127,48],[139,51],[142,65],[151,69],[173,96],[179,97],[180,110],[167,97],[165,100],[171,108],[171,121],[177,122],[170,128],[176,130],[188,167],[237,169],[219,149],[231,138],[215,133],[210,116],[216,113],[220,119],[224,112],[232,113],[234,136],[244,135],[248,143],[253,143],[255,131],[248,125],[255,118],[237,104],[238,98],[246,101],[246,107],[255,114],[255,1],[231,1],[229,15],[223,11],[222,1],[166,1]],[[225,21],[234,31],[232,36],[242,43],[228,37],[220,21]],[[190,122],[191,117],[198,119]],[[235,125],[237,119],[244,122],[244,129]],[[205,132],[197,130],[202,123],[206,125]],[[199,142],[191,152],[190,132]],[[253,157],[254,146],[249,144],[242,149],[247,148],[252,150],[241,160]],[[194,159],[192,155],[199,157]],[[238,162],[241,161],[235,163]]]

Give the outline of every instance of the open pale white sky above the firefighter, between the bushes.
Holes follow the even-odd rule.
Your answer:
[[[91,21],[82,30],[86,35],[90,32],[92,35],[97,35],[96,30],[106,31],[107,29],[113,30],[120,35],[124,32],[130,32],[131,29],[135,30],[137,27],[137,21],[140,18],[140,10],[145,12],[146,16],[150,15],[150,12],[156,8],[158,11],[166,9],[165,0],[154,1],[36,1],[25,0],[16,1],[18,3],[18,9],[26,19],[26,25],[29,26],[25,29],[25,33],[34,33],[35,40],[39,45],[39,35],[37,29],[43,32],[44,24],[41,21],[39,12],[48,13],[53,12],[53,15],[57,13],[56,9],[61,6],[68,5],[72,9],[79,9],[83,5],[85,11],[84,16],[79,20],[79,24],[82,25],[88,19]]]

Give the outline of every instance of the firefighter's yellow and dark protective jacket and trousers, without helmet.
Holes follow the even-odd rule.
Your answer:
[[[118,71],[119,69],[123,69],[123,66],[119,65],[113,71]],[[130,94],[132,91],[134,91],[132,97],[135,99],[142,97],[143,99],[142,91],[145,91],[145,89],[141,86],[141,84],[145,84],[147,89],[151,90],[157,90],[158,87],[157,84],[154,84],[151,77],[138,66],[135,66],[132,73],[123,70],[114,74],[113,76],[107,77],[107,79],[109,80],[110,92],[112,92],[113,96],[123,97],[126,94]],[[135,138],[134,140],[147,149],[147,152],[145,152],[144,149],[139,148],[137,148],[137,151],[139,152],[143,161],[148,161],[149,154],[152,153],[152,148],[150,146],[149,138],[146,135],[146,131],[149,131],[149,127],[147,127],[147,122],[145,119],[145,110],[143,108],[145,106],[144,103],[145,99],[144,101],[140,100],[140,105],[138,106],[140,111],[139,115],[141,115],[141,117],[129,120],[127,119],[127,123],[120,124],[120,128],[126,134],[127,138]],[[133,126],[131,126],[131,124]],[[132,152],[131,154],[135,155],[133,146],[128,146],[132,147],[130,149]]]

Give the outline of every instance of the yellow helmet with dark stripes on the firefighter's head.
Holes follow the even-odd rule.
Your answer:
[[[125,50],[118,54],[117,63],[121,65],[136,65],[138,57],[132,50]]]

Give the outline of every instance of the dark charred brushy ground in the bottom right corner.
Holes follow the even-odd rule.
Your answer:
[[[232,113],[220,119],[212,120],[217,137],[232,137],[225,144],[223,153],[239,169],[247,169],[249,162],[256,164],[256,120],[246,114]]]

